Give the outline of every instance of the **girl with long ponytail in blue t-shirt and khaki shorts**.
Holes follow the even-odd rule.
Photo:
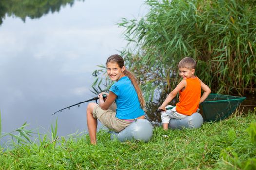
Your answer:
[[[110,130],[120,132],[134,119],[145,119],[145,100],[135,76],[126,70],[120,55],[111,55],[106,62],[107,74],[116,81],[108,93],[98,95],[99,104],[87,106],[87,126],[92,144],[96,144],[97,119]],[[103,99],[103,94],[107,97]]]

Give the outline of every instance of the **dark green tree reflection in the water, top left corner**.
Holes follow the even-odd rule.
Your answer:
[[[72,6],[74,1],[75,0],[1,0],[0,25],[6,15],[19,17],[25,22],[26,17],[36,19],[49,12],[59,12],[61,7],[66,5]]]

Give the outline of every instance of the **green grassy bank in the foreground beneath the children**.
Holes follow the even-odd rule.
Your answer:
[[[155,127],[148,143],[111,141],[105,131],[98,132],[96,146],[88,135],[55,141],[45,136],[37,144],[1,149],[0,169],[255,169],[255,121],[255,113],[249,113],[199,129],[164,132]]]

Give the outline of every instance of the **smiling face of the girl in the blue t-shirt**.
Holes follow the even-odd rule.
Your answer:
[[[125,70],[125,66],[120,68],[117,63],[113,63],[113,62],[107,63],[107,73],[109,78],[112,81],[118,81],[120,80],[120,78],[124,77],[125,76],[123,73],[124,70]]]

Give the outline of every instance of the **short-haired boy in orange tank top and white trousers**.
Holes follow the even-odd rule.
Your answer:
[[[183,80],[175,87],[164,100],[159,109],[164,110],[161,115],[163,129],[168,129],[170,119],[183,119],[195,113],[199,104],[211,93],[210,88],[194,75],[196,61],[193,58],[185,57],[179,64],[179,75]],[[201,89],[204,91],[201,97]],[[179,102],[170,110],[166,106],[179,92]]]

